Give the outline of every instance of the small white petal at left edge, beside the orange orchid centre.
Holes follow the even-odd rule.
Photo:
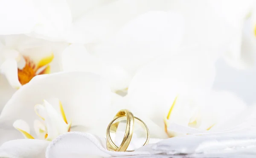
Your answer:
[[[18,79],[18,69],[17,69],[17,62],[15,59],[7,59],[1,66],[0,72],[3,73],[9,84],[19,89],[21,87],[20,81]]]

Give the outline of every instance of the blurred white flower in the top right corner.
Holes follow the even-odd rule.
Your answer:
[[[225,29],[230,33],[230,42],[227,43],[227,50],[224,53],[227,63],[239,69],[253,66],[256,52],[255,11],[253,11],[255,1],[209,0],[209,4],[227,23]]]

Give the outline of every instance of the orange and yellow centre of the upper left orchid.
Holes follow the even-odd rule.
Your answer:
[[[29,83],[33,77],[36,75],[49,74],[50,66],[49,63],[52,62],[54,55],[50,55],[48,57],[43,58],[37,64],[35,64],[29,57],[24,57],[25,66],[23,69],[18,69],[18,78],[21,85]]]

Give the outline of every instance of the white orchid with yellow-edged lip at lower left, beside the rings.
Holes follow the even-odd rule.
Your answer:
[[[105,136],[113,117],[109,115],[110,105],[111,90],[99,75],[89,72],[38,75],[15,92],[0,115],[4,125],[0,141],[7,141],[5,135],[12,124],[13,129],[31,141],[22,139],[22,135],[19,139],[13,136],[17,140],[10,137],[8,142],[1,142],[4,144],[0,147],[0,157],[45,156],[42,152],[45,145],[69,131]],[[14,146],[17,150],[10,150]]]

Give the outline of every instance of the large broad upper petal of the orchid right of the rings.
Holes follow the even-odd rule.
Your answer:
[[[177,112],[179,119],[183,122],[188,119],[188,124],[196,118],[196,106],[204,103],[204,96],[210,91],[215,77],[215,60],[206,52],[211,53],[186,50],[177,55],[165,55],[145,65],[132,79],[125,97],[128,103],[123,103],[124,107],[131,108],[134,115],[145,120],[153,138],[167,137],[163,119],[177,95],[183,96],[178,109],[187,110],[183,114]],[[189,100],[192,102],[187,102]],[[117,102],[117,106],[122,102]]]

